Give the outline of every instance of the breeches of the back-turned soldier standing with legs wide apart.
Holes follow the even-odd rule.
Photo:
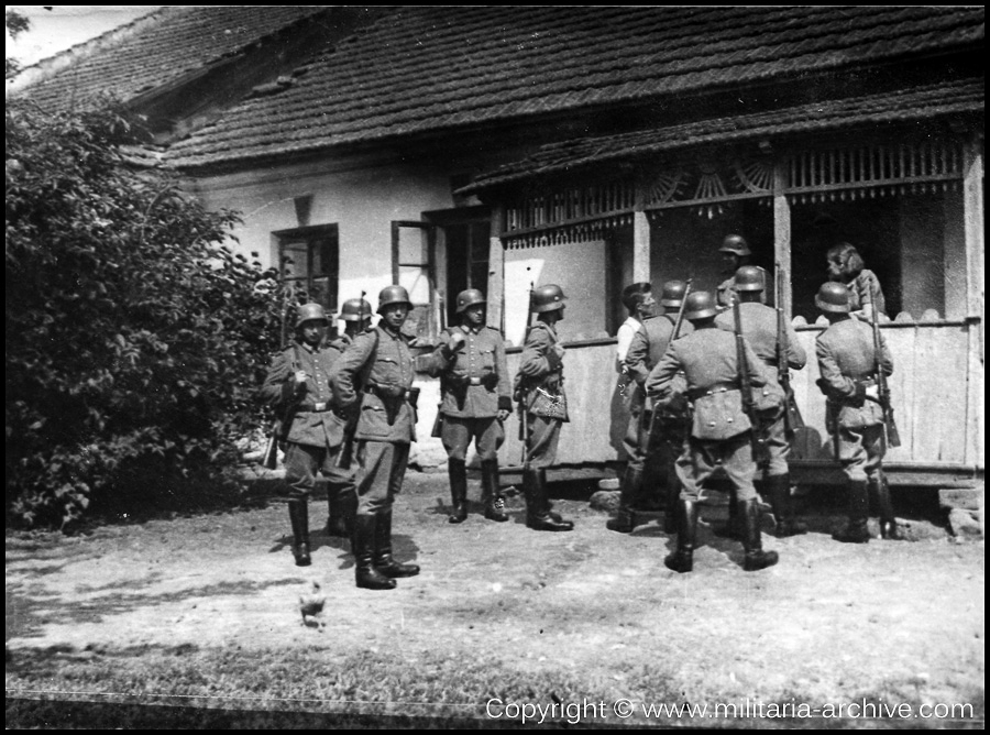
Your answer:
[[[684,451],[676,461],[681,500],[697,501],[705,481],[719,468],[733,483],[736,500],[756,500],[756,487],[752,484],[756,464],[752,461],[752,445],[748,431],[721,441],[706,441],[694,437],[688,440]]]

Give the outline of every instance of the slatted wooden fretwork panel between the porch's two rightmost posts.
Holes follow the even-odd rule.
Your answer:
[[[963,151],[949,141],[804,151],[787,172],[800,202],[944,191],[963,176]]]

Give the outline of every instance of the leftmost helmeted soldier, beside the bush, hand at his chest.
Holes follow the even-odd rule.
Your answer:
[[[330,374],[345,344],[327,342],[330,320],[319,304],[299,307],[296,337],[275,356],[262,386],[262,398],[277,406],[290,423],[285,446],[285,481],[289,489],[289,520],[296,566],[311,563],[309,548],[309,496],[316,473],[327,478],[328,495],[345,508],[354,495],[354,480],[338,467],[346,416],[333,401]],[[333,501],[331,501],[333,502]],[[341,511],[340,524],[346,523]],[[341,528],[344,530],[344,528]]]

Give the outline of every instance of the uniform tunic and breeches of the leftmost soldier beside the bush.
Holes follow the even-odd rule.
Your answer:
[[[298,401],[284,459],[292,497],[309,497],[317,472],[322,472],[338,492],[353,486],[353,473],[338,467],[346,419],[330,388],[330,375],[345,347],[343,339],[318,347],[296,342],[275,356],[262,386],[262,398],[276,406],[279,414],[284,415],[289,404]],[[298,370],[306,373],[306,387],[300,393],[295,392],[293,380]]]

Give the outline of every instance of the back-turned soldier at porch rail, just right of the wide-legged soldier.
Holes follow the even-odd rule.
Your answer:
[[[749,347],[766,366],[767,384],[754,390],[754,404],[760,416],[762,426],[754,427],[760,431],[769,461],[766,471],[766,492],[770,496],[770,505],[773,508],[773,517],[777,520],[777,537],[796,536],[806,534],[807,526],[794,517],[794,507],[791,501],[791,479],[788,468],[788,456],[791,453],[791,442],[785,431],[784,412],[787,410],[787,396],[778,381],[777,356],[777,309],[760,304],[763,290],[763,274],[752,265],[744,265],[736,271],[733,289],[739,299],[739,317],[743,327],[743,336]],[[736,323],[732,312],[719,314],[715,323],[722,329],[735,332]],[[807,363],[807,355],[798,342],[798,334],[788,325],[788,368],[801,370]],[[735,508],[735,503],[729,506]],[[737,508],[736,508],[737,511]],[[738,513],[730,514],[738,517]],[[733,520],[729,520],[729,531],[735,531]]]

